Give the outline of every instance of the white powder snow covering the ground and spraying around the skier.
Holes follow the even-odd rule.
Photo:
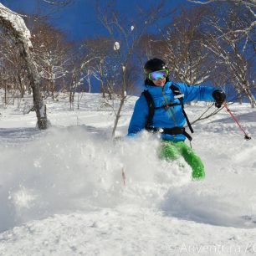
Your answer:
[[[251,141],[226,110],[193,125],[207,177],[192,182],[182,159],[156,157],[155,136],[113,142],[115,116],[99,95],[74,111],[49,100],[47,131],[23,115],[30,105],[0,107],[0,255],[256,255],[256,110],[230,106]]]

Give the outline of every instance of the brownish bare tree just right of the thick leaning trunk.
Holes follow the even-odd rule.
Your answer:
[[[46,22],[38,21],[33,26],[32,35],[34,57],[43,78],[44,96],[51,95],[54,99],[57,84],[68,74],[72,45],[66,40],[64,33]],[[63,86],[64,84],[61,87]]]

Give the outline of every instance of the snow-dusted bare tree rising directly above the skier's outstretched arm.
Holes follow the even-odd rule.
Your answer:
[[[212,15],[209,8],[183,8],[166,28],[163,57],[175,80],[197,85],[212,79],[217,63],[212,53],[202,47],[205,40],[203,20]]]

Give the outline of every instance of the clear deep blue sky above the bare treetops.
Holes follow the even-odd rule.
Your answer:
[[[120,14],[126,15],[126,17],[132,16],[137,6],[146,8],[151,3],[160,3],[160,1],[156,0],[117,0],[116,2]],[[47,8],[47,11],[49,11],[50,8],[49,5],[42,4],[40,0],[2,0],[1,3],[16,12],[37,13],[39,9],[45,10]],[[94,3],[95,1],[92,0],[74,0],[72,6],[63,8],[54,14],[51,23],[62,29],[67,33],[68,38],[74,41],[106,34],[105,28],[103,28],[95,15]],[[187,3],[187,0],[166,1],[166,10],[184,3]]]

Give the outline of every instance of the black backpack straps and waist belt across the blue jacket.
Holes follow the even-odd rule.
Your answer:
[[[171,84],[170,89],[172,90],[172,93],[175,99],[178,99],[180,102],[179,103],[173,103],[171,105],[162,105],[161,107],[155,107],[154,104],[154,100],[152,98],[151,93],[148,90],[144,90],[142,92],[141,95],[144,95],[146,98],[146,102],[148,105],[148,115],[147,115],[147,120],[146,120],[146,125],[145,125],[145,129],[147,131],[151,131],[153,133],[155,132],[161,132],[161,133],[165,133],[165,134],[170,134],[170,135],[178,135],[178,134],[183,134],[184,136],[187,137],[187,139],[189,141],[192,141],[192,136],[190,136],[186,131],[184,127],[174,127],[174,128],[158,128],[158,127],[151,127],[152,125],[152,120],[153,120],[153,116],[155,114],[155,110],[156,109],[160,109],[160,108],[168,108],[174,105],[182,105],[182,113],[187,121],[187,125],[189,130],[193,133],[193,129],[192,129],[192,125],[190,123],[190,121],[188,120],[187,114],[184,110],[184,103],[183,103],[183,96],[181,91],[177,88],[177,86],[175,86],[174,84]]]

